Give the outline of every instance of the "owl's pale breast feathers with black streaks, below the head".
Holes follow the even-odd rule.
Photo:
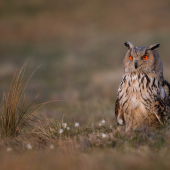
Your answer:
[[[157,97],[163,97],[159,82],[146,74],[126,75],[119,87],[118,97],[124,112],[146,112],[152,108]]]

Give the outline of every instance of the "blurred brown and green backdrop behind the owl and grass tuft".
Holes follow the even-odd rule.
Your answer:
[[[114,122],[114,103],[122,78],[124,42],[160,43],[164,76],[170,81],[169,0],[1,0],[0,94],[7,92],[17,67],[28,60],[35,72],[31,101],[55,102],[50,117]]]

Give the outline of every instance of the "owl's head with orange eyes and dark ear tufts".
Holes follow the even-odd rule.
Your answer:
[[[160,44],[154,44],[150,47],[136,47],[126,41],[128,48],[123,59],[124,74],[146,73],[155,74],[159,78],[163,76],[162,61],[156,49]]]

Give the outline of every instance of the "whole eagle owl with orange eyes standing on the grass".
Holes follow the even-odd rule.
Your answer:
[[[124,73],[115,105],[118,124],[125,130],[156,128],[169,115],[170,84],[163,77],[163,65],[157,52],[160,44],[136,47],[126,41]]]

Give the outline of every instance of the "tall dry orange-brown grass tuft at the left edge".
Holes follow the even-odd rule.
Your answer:
[[[21,69],[15,71],[11,86],[7,96],[3,94],[0,105],[0,137],[7,138],[17,136],[25,125],[28,125],[29,118],[37,111],[37,107],[32,108],[36,98],[28,104],[25,97],[25,89],[31,75],[24,76],[27,62],[23,64]],[[39,106],[38,108],[40,108]]]

